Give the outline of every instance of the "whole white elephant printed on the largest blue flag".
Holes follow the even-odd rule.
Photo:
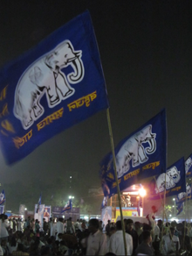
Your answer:
[[[46,95],[48,106],[53,108],[74,94],[69,82],[78,83],[84,77],[81,55],[82,51],[74,51],[72,43],[65,40],[24,71],[17,82],[13,113],[25,130],[44,114],[42,96]],[[66,76],[61,69],[69,65],[73,71]]]

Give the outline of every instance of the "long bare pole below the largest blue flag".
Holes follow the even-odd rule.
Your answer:
[[[118,177],[117,177],[117,167],[116,167],[116,159],[115,159],[114,144],[113,144],[113,132],[112,132],[112,125],[111,125],[111,120],[110,120],[109,109],[106,110],[106,116],[107,116],[107,123],[108,123],[108,128],[109,128],[109,137],[110,137],[112,153],[113,153],[114,176],[115,176],[115,181],[116,181],[116,184],[117,184],[117,195],[118,195],[119,205],[120,205],[120,219],[121,219],[121,225],[122,225],[122,231],[123,231],[123,241],[124,241],[124,247],[125,247],[125,255],[127,255],[126,232],[125,232],[124,219],[123,219],[123,214],[122,214],[122,209],[121,209],[120,186],[119,186]]]

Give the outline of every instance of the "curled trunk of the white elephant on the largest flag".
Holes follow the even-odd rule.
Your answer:
[[[84,67],[81,60],[79,60],[79,56],[77,56],[76,59],[72,60],[71,65],[74,73],[68,76],[69,82],[76,83],[81,81],[84,76]]]

